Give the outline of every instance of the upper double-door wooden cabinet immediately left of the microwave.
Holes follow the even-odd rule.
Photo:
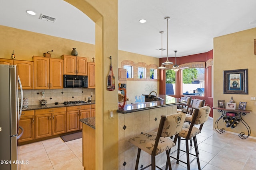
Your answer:
[[[63,88],[63,60],[33,56],[34,89]]]

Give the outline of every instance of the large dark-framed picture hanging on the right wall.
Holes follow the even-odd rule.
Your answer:
[[[248,94],[248,68],[224,70],[224,94]]]

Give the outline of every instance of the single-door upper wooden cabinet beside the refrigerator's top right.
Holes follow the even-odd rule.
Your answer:
[[[20,77],[20,81],[23,89],[34,88],[34,63],[32,61],[14,60],[16,65],[17,75]]]

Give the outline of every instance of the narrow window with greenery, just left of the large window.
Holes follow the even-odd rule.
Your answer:
[[[176,72],[174,70],[166,70],[166,95],[175,95]]]

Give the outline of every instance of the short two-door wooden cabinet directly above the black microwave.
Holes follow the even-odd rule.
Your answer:
[[[73,55],[62,55],[64,60],[64,74],[87,75],[87,58]]]

